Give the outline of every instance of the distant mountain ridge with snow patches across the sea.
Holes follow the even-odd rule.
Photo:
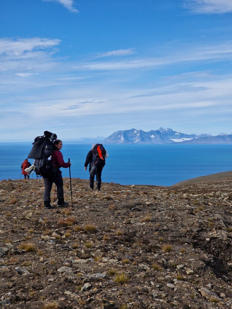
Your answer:
[[[170,128],[143,131],[137,129],[116,131],[103,140],[104,144],[232,144],[232,134],[185,134]]]

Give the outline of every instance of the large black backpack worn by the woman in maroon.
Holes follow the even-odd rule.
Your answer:
[[[48,158],[52,155],[53,143],[57,139],[57,135],[49,131],[45,131],[44,135],[37,136],[32,143],[32,150],[28,155],[28,159],[34,159],[35,172],[39,177],[51,178],[55,176],[54,167]]]

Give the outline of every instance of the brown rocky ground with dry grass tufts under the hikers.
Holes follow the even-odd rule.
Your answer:
[[[42,180],[0,182],[0,307],[232,307],[232,180],[72,189],[45,210]]]

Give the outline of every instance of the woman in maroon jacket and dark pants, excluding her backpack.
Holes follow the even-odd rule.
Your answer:
[[[44,207],[45,209],[53,209],[54,207],[50,205],[50,193],[52,189],[52,184],[56,184],[57,186],[57,197],[58,197],[58,207],[66,207],[69,202],[64,201],[64,192],[63,192],[63,179],[61,175],[61,167],[67,168],[71,166],[71,163],[65,163],[63,159],[63,155],[61,153],[62,148],[62,141],[57,139],[53,145],[53,152],[51,158],[51,164],[55,168],[55,176],[52,178],[45,178],[44,179]]]

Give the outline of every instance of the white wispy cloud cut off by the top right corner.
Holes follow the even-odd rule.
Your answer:
[[[187,0],[183,7],[195,14],[222,14],[232,12],[231,0]]]

